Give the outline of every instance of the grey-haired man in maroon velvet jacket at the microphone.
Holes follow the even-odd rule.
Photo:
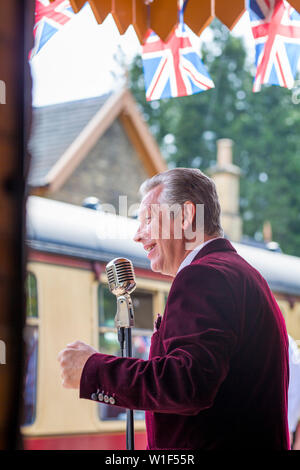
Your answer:
[[[149,449],[289,449],[284,319],[263,277],[223,238],[213,181],[176,168],[141,189],[135,240],[153,271],[174,277],[149,359],[75,342],[59,355],[63,385],[146,410]],[[164,212],[174,205],[183,210]]]

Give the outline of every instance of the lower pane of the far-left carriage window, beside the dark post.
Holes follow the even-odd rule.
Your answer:
[[[26,344],[25,358],[25,383],[24,383],[24,409],[23,424],[32,424],[36,413],[36,387],[37,387],[37,353],[38,353],[38,328],[26,326],[24,329]]]

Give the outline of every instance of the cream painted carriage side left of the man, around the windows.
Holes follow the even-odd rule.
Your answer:
[[[24,436],[125,431],[125,422],[101,422],[96,403],[79,399],[77,390],[61,384],[57,356],[67,343],[78,339],[98,349],[94,273],[40,262],[31,262],[27,268],[37,278],[39,345],[36,420],[23,427]],[[107,282],[106,276],[101,281]],[[150,279],[137,279],[137,284],[154,293],[154,313],[163,313],[163,292],[169,284]],[[136,421],[135,429],[144,430],[144,421]]]

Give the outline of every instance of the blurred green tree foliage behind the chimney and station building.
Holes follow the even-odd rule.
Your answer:
[[[212,31],[202,56],[214,89],[146,102],[140,56],[130,69],[130,88],[170,167],[205,172],[215,164],[216,140],[232,139],[234,163],[243,174],[243,233],[259,239],[269,220],[282,250],[300,256],[300,104],[280,87],[253,93],[242,40],[218,21]]]

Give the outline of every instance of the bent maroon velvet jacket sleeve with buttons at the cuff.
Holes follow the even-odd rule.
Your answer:
[[[237,343],[234,302],[223,275],[190,265],[176,276],[159,334],[165,354],[149,360],[97,353],[86,362],[80,397],[97,390],[114,404],[197,414],[213,404]]]

